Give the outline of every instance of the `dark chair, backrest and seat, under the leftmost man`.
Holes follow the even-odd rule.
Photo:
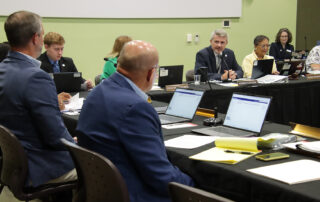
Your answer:
[[[0,148],[2,150],[1,191],[4,186],[8,186],[17,199],[29,201],[76,188],[76,181],[25,187],[28,175],[27,155],[16,136],[2,125],[0,125]]]

